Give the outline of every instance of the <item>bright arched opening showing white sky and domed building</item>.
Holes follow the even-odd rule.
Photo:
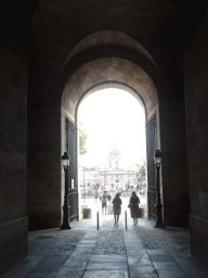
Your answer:
[[[136,177],[139,169],[145,169],[146,161],[144,105],[125,89],[96,88],[80,101],[77,113],[79,129],[83,124],[88,135],[88,151],[79,153],[78,160],[81,212],[88,205],[92,213],[99,211],[102,215],[100,199],[106,190],[112,200],[117,192],[121,194],[123,213],[133,190],[140,197],[141,216],[145,217],[146,176]],[[106,213],[113,215],[112,201]]]

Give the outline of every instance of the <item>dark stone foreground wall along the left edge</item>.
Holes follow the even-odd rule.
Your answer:
[[[11,39],[0,43],[0,276],[27,255],[26,58]]]

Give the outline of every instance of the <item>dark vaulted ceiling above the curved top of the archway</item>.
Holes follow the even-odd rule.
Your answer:
[[[31,28],[41,52],[74,48],[91,33],[103,29],[122,31],[148,48],[157,47],[158,37],[165,29],[169,31],[166,24],[169,22],[171,28],[170,18],[176,16],[174,7],[167,0],[42,0]]]

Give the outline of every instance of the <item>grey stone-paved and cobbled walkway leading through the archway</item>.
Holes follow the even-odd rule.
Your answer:
[[[29,232],[28,256],[3,278],[207,278],[190,253],[187,229],[156,229],[152,220],[133,226],[125,214],[72,224],[70,230]]]

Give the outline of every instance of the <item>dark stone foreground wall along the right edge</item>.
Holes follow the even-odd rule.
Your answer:
[[[191,191],[191,248],[192,253],[208,267],[207,10],[203,9],[197,11],[197,13],[194,10],[193,15],[192,25],[187,26],[184,39],[184,85]]]

